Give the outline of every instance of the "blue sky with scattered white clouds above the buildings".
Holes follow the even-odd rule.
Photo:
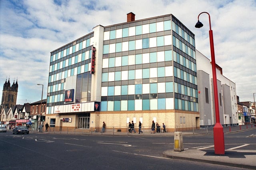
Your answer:
[[[216,64],[236,83],[240,102],[256,93],[256,0],[0,0],[0,85],[18,80],[16,104],[46,98],[50,52],[97,25],[172,14],[195,34],[196,49],[210,57],[209,18]],[[217,77],[218,79],[218,77]],[[256,97],[256,94],[255,94]],[[2,93],[0,93],[2,99]]]

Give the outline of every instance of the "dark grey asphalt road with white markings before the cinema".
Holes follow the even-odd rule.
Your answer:
[[[225,149],[256,148],[256,129],[225,134]],[[184,135],[184,149],[214,149],[212,135]],[[173,135],[64,135],[0,133],[0,169],[230,170],[234,167],[164,158]],[[237,168],[238,169],[238,168]],[[240,169],[240,168],[239,168]]]

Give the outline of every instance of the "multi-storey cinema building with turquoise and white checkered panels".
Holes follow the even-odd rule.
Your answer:
[[[51,52],[51,127],[199,127],[194,34],[172,14],[110,26]],[[48,117],[48,118],[47,118]]]

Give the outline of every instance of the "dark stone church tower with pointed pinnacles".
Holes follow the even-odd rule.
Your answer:
[[[10,79],[7,82],[7,79],[4,83],[4,88],[2,92],[2,102],[1,102],[1,109],[9,109],[12,106],[16,106],[17,94],[18,94],[18,80],[12,86],[10,86]]]

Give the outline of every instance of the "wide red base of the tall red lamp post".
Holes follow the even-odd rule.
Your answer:
[[[225,154],[224,132],[220,123],[216,123],[213,127],[214,153]]]

